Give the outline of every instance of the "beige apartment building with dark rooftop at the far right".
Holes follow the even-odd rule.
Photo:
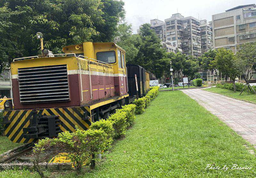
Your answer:
[[[212,15],[213,46],[236,53],[236,45],[256,41],[256,5],[240,5]]]

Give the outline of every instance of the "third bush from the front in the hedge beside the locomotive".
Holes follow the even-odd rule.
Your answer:
[[[127,128],[126,112],[116,112],[115,114],[111,114],[107,120],[111,121],[113,124],[115,130],[114,138],[120,138],[125,135]]]

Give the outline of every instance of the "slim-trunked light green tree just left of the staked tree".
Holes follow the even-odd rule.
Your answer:
[[[234,92],[236,92],[235,79],[239,75],[239,71],[236,67],[236,56],[234,53],[231,50],[226,50],[224,48],[218,49],[214,65],[216,65],[220,72],[234,81]]]

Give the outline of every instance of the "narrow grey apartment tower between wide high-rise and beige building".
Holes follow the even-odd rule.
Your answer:
[[[207,20],[200,20],[200,29],[201,29],[201,51],[202,54],[213,48],[212,40],[212,23],[207,22]]]

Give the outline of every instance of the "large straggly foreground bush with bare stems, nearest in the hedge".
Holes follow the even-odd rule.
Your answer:
[[[55,139],[45,138],[38,141],[33,153],[39,155],[49,150],[65,152],[64,156],[70,159],[77,174],[82,170],[84,162],[90,160],[91,169],[95,167],[95,155],[109,147],[107,134],[102,130],[81,130],[76,132],[62,132]]]

